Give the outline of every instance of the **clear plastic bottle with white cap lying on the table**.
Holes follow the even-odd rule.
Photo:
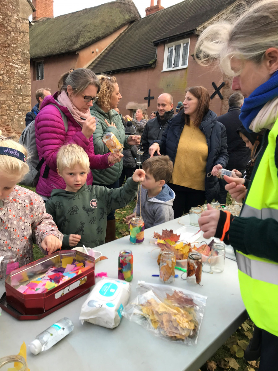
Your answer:
[[[29,346],[30,352],[39,354],[40,352],[51,348],[58,341],[63,339],[67,334],[72,332],[73,323],[69,318],[62,318],[54,325],[41,332],[36,339],[31,341]]]

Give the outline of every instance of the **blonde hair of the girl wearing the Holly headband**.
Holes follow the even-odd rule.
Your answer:
[[[22,152],[26,157],[28,155],[26,148],[12,139],[0,141],[0,147],[13,148],[13,150]],[[21,161],[16,157],[0,155],[0,171],[5,172],[5,176],[7,177],[14,177],[22,180],[29,172],[29,166],[26,162]]]

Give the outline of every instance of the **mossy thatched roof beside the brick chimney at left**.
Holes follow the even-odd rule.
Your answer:
[[[29,32],[30,59],[76,52],[137,19],[140,14],[132,0],[117,0],[34,21]]]

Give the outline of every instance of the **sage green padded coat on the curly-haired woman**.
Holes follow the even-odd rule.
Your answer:
[[[125,147],[125,149],[129,149],[132,147],[127,143],[127,139],[129,136],[125,134],[125,128],[118,112],[116,112],[114,109],[111,109],[109,112],[104,112],[103,109],[101,109],[96,103],[93,103],[93,106],[90,107],[90,111],[91,116],[97,117],[99,119],[96,125],[96,130],[93,134],[95,154],[103,155],[109,152],[108,148],[102,141],[103,135],[108,132],[112,132],[113,134],[115,134],[117,139],[123,145],[123,147]],[[116,124],[116,127],[107,127],[105,120],[107,120],[109,124],[114,122],[114,124]],[[117,162],[115,165],[107,169],[92,170],[93,184],[113,184],[119,179],[120,175],[122,174],[122,170],[123,160]]]

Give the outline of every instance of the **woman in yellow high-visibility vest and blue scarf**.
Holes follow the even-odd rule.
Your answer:
[[[202,213],[204,238],[219,237],[236,252],[242,299],[255,324],[245,352],[261,357],[260,371],[278,370],[278,0],[258,1],[234,19],[207,27],[195,59],[202,65],[218,59],[233,90],[246,97],[239,116],[245,129],[263,131],[251,181],[226,175],[226,190],[244,199],[241,215]]]

